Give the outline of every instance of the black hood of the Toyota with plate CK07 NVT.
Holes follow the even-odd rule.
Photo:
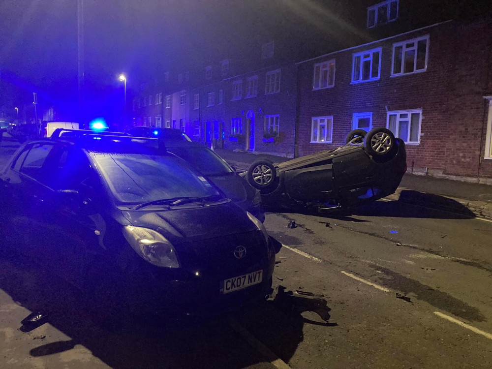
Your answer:
[[[234,203],[171,210],[122,210],[134,226],[154,229],[173,245],[257,230],[254,223]]]

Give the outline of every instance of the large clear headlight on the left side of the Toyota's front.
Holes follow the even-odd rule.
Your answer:
[[[126,225],[123,235],[131,247],[144,260],[163,268],[179,268],[173,245],[160,233],[152,229]]]

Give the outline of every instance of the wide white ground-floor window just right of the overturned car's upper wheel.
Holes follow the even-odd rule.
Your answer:
[[[420,144],[421,123],[422,110],[420,109],[388,112],[388,129],[405,144]]]

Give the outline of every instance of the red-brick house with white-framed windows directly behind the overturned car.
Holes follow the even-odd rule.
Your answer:
[[[410,172],[492,177],[491,31],[489,18],[442,22],[298,63],[296,154],[387,127]]]

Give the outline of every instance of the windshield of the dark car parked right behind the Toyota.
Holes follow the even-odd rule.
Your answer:
[[[172,147],[168,151],[192,163],[205,176],[223,176],[233,172],[220,157],[205,147]]]

